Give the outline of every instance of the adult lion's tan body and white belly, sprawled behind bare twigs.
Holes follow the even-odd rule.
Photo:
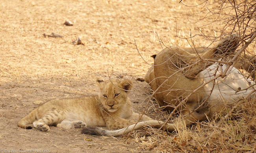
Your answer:
[[[154,97],[165,110],[173,111],[181,102],[184,103],[179,105],[178,110],[181,110],[187,126],[205,120],[206,117],[213,118],[220,112],[224,114],[238,99],[245,97],[255,88],[251,86],[255,82],[245,78],[237,69],[254,72],[255,59],[239,62],[243,56],[230,68],[226,77],[219,77],[214,83],[211,81],[215,75],[226,69],[226,65],[219,65],[211,59],[234,57],[229,53],[234,52],[238,45],[239,37],[232,34],[221,40],[213,49],[168,47],[157,54],[154,66],[148,70],[145,81],[152,90],[157,90]],[[210,83],[196,90],[207,82]],[[243,90],[246,88],[248,89]],[[239,90],[242,91],[238,92]]]

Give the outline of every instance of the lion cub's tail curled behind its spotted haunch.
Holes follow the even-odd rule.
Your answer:
[[[23,117],[19,122],[18,126],[24,129],[32,129],[32,123],[36,121],[37,109],[30,112],[27,116]]]

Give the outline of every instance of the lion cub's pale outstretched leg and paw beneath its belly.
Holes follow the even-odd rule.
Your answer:
[[[71,128],[85,128],[86,124],[82,121],[62,121],[57,124],[57,128],[71,129]]]

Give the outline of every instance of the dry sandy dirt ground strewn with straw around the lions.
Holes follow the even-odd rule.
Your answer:
[[[137,131],[142,136],[139,142],[134,133],[124,142],[126,137],[93,137],[80,134],[79,129],[51,127],[49,133],[25,130],[17,122],[51,99],[95,95],[98,77],[131,79],[135,85],[130,94],[134,110],[143,110],[148,85],[135,79],[144,78],[150,67],[145,61],[152,64],[150,56],[161,51],[156,33],[168,46],[185,47],[187,40],[176,35],[185,37],[200,29],[215,36],[212,29],[221,29],[217,23],[204,27],[200,27],[204,23],[189,23],[187,17],[204,15],[194,14],[196,9],[179,4],[179,0],[2,1],[0,149],[43,149],[53,153],[171,152],[143,146],[141,131]],[[73,26],[63,25],[65,20],[72,21]],[[43,36],[52,32],[63,38]],[[78,37],[83,45],[72,44]],[[200,37],[194,41],[210,44]],[[157,107],[150,102],[153,105]],[[161,114],[151,113],[155,117]],[[152,134],[145,130],[144,134]]]

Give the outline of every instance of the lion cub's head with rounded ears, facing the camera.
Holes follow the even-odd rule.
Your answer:
[[[99,99],[104,108],[109,112],[115,112],[120,106],[126,103],[127,94],[132,89],[132,81],[111,79],[103,81],[97,79],[96,83],[100,88]]]

